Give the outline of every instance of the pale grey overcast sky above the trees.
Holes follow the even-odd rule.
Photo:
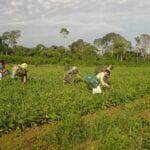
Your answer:
[[[70,31],[68,44],[109,32],[133,42],[140,33],[150,34],[150,0],[0,0],[0,34],[21,30],[19,44],[63,44],[62,27]]]

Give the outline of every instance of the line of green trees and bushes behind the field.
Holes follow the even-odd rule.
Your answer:
[[[102,38],[87,43],[78,39],[67,46],[70,31],[62,28],[64,46],[46,47],[38,44],[29,48],[18,45],[20,30],[4,32],[0,36],[0,58],[10,63],[27,62],[31,64],[100,64],[100,63],[149,63],[150,35],[135,37],[136,47],[120,34],[108,33]]]

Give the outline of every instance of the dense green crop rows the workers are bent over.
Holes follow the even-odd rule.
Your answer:
[[[150,94],[148,67],[115,68],[111,76],[112,91],[103,89],[102,95],[92,95],[82,82],[63,85],[63,70],[58,66],[32,66],[26,85],[4,78],[0,84],[0,132],[64,120],[69,114],[93,113]],[[82,68],[81,74],[94,74],[93,70]]]

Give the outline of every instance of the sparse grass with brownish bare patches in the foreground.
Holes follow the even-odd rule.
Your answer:
[[[16,130],[0,138],[2,149],[149,149],[150,99],[63,122]]]

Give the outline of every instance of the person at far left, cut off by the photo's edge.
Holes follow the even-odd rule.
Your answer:
[[[9,70],[6,69],[5,61],[0,60],[0,80],[2,79],[2,77],[8,75],[9,73],[10,73]]]

